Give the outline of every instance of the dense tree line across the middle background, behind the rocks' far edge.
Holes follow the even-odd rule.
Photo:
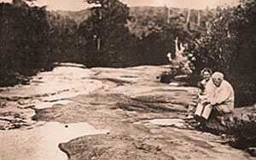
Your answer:
[[[76,43],[76,47],[72,48],[67,44],[67,49],[63,49],[68,40],[62,41],[60,53],[64,56],[61,57],[73,55],[68,57],[73,57],[72,60],[84,63],[86,66],[166,64],[168,63],[166,54],[175,50],[173,40],[179,37],[183,43],[192,46],[193,39],[206,31],[206,20],[212,13],[212,10],[192,10],[187,26],[188,9],[168,10],[166,7],[129,9],[117,0],[108,3],[107,1],[90,1],[90,3],[100,5],[91,8],[90,12],[86,9],[76,14],[62,11],[49,13],[51,16],[54,14],[59,17],[62,26],[76,30],[73,31],[73,36],[76,37],[73,43]],[[199,26],[198,12],[201,14]],[[86,14],[84,20],[77,20],[77,17],[81,17],[78,14],[81,13]],[[78,28],[72,27],[72,23],[67,23],[66,20],[77,22]],[[55,23],[58,31],[58,22],[52,19],[49,21]],[[63,31],[59,33],[63,34]],[[64,33],[63,39],[65,36]],[[76,51],[67,53],[67,50]],[[67,60],[71,59],[67,58]]]

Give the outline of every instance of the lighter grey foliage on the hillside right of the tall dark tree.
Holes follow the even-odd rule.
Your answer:
[[[128,21],[128,28],[137,37],[147,37],[152,31],[161,31],[165,26],[188,30],[186,19],[188,9],[177,9],[167,7],[132,7],[131,20]],[[206,22],[212,16],[214,10],[191,10],[189,20],[189,31],[205,31]],[[168,17],[169,12],[169,17]],[[197,25],[198,12],[201,14],[201,24]],[[169,23],[168,23],[169,22]],[[199,35],[198,35],[199,36]],[[181,37],[181,36],[180,36]],[[183,37],[189,38],[189,37]]]

